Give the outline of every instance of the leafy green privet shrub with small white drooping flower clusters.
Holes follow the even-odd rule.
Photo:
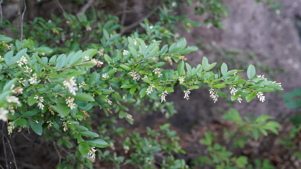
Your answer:
[[[155,107],[164,110],[167,118],[173,115],[173,105],[166,101],[177,85],[186,100],[194,89],[206,85],[214,103],[219,97],[227,96],[237,102],[242,99],[250,102],[255,97],[264,102],[264,92],[283,90],[275,81],[256,75],[253,65],[246,71],[248,79],[242,79],[242,70],[228,70],[225,63],[216,68],[217,63],[209,63],[206,57],[196,67],[191,66],[185,55],[197,47],[187,46],[185,38],[175,38],[173,32],[163,26],[174,19],[166,16],[175,4],[166,3],[169,6],[161,9],[159,22],[152,25],[145,19],[140,24],[145,29],[141,34],[118,34],[116,30],[122,26],[115,16],[103,15],[105,21],[100,23],[82,14],[65,15],[63,22],[69,25],[65,30],[58,27],[62,20],[53,16],[49,21],[35,18],[30,23],[32,29],[25,26],[26,38],[22,41],[0,35],[0,119],[8,123],[8,134],[30,128],[51,140],[52,133],[59,133],[68,138],[62,137],[57,144],[69,148],[73,147],[70,139],[76,140],[77,150],[63,162],[59,161],[57,168],[74,165],[92,168],[95,158],[115,163],[116,167],[136,163],[138,167],[152,168],[155,152],[162,150],[167,157],[161,167],[184,168],[187,167],[185,161],[175,159],[173,153],[185,151],[179,147],[179,138],[168,124],[160,127],[161,133],[148,128],[147,138],[139,133],[126,137],[123,149],[131,159],[97,149],[111,146],[114,150],[115,141],[103,135],[105,126],[113,123],[110,119],[103,122],[105,126],[99,126],[98,131],[92,128],[93,110],[101,109],[106,116],[118,114],[120,119],[133,124],[135,115],[129,112],[127,103],[135,102],[139,107],[142,99],[157,104]],[[220,10],[217,18],[223,16],[224,8]],[[202,13],[204,9],[199,7],[196,11]],[[179,20],[181,18],[175,19]],[[187,19],[182,21],[187,30],[199,26]],[[206,22],[220,26],[215,18]],[[92,43],[81,43],[83,38]],[[166,63],[177,63],[177,69],[164,68]],[[110,134],[123,136],[122,132],[124,128],[111,128]],[[254,133],[257,134],[259,131]],[[159,135],[165,140],[158,141]],[[208,137],[206,134],[205,139]],[[206,145],[211,146],[211,142]],[[73,164],[69,164],[71,159]],[[241,160],[244,159],[235,158],[232,162]]]

